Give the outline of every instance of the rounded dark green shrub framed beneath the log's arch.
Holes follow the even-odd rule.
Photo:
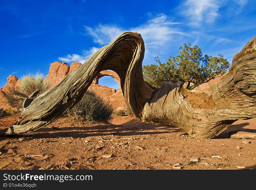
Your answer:
[[[69,115],[74,116],[80,123],[95,123],[97,120],[112,120],[113,105],[106,102],[101,96],[93,91],[87,91],[80,102],[78,102],[70,111]]]

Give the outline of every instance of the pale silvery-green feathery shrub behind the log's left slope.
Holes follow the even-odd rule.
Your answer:
[[[43,73],[29,73],[21,78],[20,85],[15,89],[9,89],[5,97],[10,106],[22,111],[22,104],[24,100],[29,97],[36,90],[40,90],[39,94],[44,93],[50,88],[51,84],[45,80]]]

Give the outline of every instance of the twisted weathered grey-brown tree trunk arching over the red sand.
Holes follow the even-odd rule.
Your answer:
[[[140,34],[124,32],[99,49],[57,86],[24,102],[19,120],[1,134],[35,131],[57,120],[80,101],[102,70],[113,70],[121,79],[125,102],[141,121],[176,126],[198,138],[213,138],[240,119],[256,117],[256,37],[234,56],[228,73],[202,92],[212,104],[196,106],[182,95],[181,83],[166,82],[153,88],[143,79],[144,42]],[[184,94],[184,93],[183,93]]]

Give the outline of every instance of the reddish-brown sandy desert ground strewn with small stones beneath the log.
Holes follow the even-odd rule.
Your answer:
[[[17,116],[1,117],[0,129]],[[207,140],[134,117],[90,126],[62,117],[33,133],[0,137],[0,169],[256,169],[256,140],[230,138],[236,130],[256,132],[256,118]]]

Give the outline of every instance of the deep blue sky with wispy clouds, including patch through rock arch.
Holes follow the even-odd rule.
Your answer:
[[[1,0],[0,88],[9,75],[47,75],[54,61],[83,63],[124,31],[141,33],[143,65],[156,56],[164,62],[189,42],[232,62],[256,36],[255,21],[255,0]],[[99,82],[118,88],[109,77]]]

